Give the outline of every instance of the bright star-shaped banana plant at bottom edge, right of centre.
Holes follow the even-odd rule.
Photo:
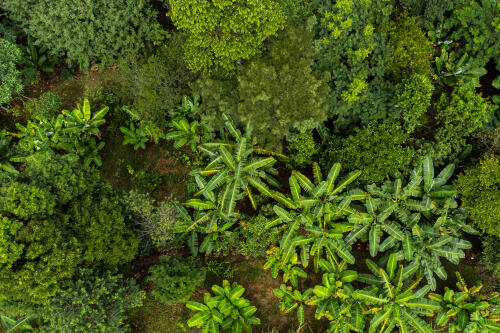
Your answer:
[[[368,332],[392,332],[395,327],[399,327],[400,332],[410,332],[410,327],[421,333],[434,332],[421,316],[431,317],[441,306],[425,298],[429,285],[415,290],[423,278],[419,275],[412,279],[418,265],[411,264],[404,268],[401,264],[398,268],[396,254],[390,256],[386,269],[378,267],[370,259],[367,259],[367,265],[373,275],[360,274],[358,280],[372,286],[354,291],[353,297],[368,306],[367,312],[375,314]]]

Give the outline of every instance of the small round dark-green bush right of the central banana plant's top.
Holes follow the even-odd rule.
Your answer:
[[[313,156],[319,150],[314,141],[312,131],[291,134],[287,137],[287,142],[287,166],[290,168],[302,168],[311,164]]]

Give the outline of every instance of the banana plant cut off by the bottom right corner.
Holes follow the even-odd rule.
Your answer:
[[[468,288],[459,272],[456,272],[459,291],[445,288],[444,295],[430,293],[429,299],[439,302],[441,309],[436,317],[436,325],[448,326],[449,333],[465,332],[500,332],[500,325],[495,322],[490,299],[498,299],[498,293],[481,295],[482,285]]]

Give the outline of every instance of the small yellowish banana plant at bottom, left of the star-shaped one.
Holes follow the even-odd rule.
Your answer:
[[[316,319],[330,320],[331,332],[361,332],[365,318],[362,304],[352,297],[354,287],[351,285],[358,273],[346,270],[345,261],[337,264],[331,257],[321,259],[320,266],[325,272],[322,284],[314,286],[314,296],[307,300],[307,305],[317,306]]]

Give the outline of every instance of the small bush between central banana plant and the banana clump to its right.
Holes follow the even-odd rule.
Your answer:
[[[280,231],[277,228],[266,229],[269,222],[270,220],[261,214],[241,222],[243,228],[240,230],[238,252],[245,258],[264,258],[269,246],[279,242]]]

